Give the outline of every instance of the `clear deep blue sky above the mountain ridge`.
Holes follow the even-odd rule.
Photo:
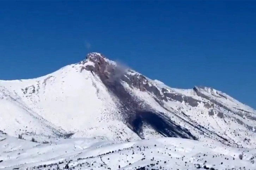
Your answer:
[[[256,1],[0,1],[0,79],[43,76],[88,52],[256,108]]]

